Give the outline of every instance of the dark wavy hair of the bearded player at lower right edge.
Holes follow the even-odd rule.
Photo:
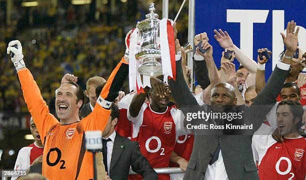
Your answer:
[[[288,105],[290,107],[290,110],[293,114],[293,120],[297,117],[299,121],[296,123],[296,130],[298,130],[302,126],[302,119],[303,119],[303,113],[304,109],[299,101],[293,101],[293,100],[283,100],[280,101],[277,104],[276,110],[280,105]]]

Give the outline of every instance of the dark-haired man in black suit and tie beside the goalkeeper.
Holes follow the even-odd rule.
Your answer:
[[[99,95],[102,87],[96,87]],[[139,144],[120,136],[114,130],[119,117],[118,107],[112,103],[110,116],[104,131],[102,132],[102,154],[105,171],[110,179],[127,179],[129,168],[137,172],[143,179],[157,179],[157,174],[148,160],[140,153]],[[108,178],[106,176],[106,178]]]

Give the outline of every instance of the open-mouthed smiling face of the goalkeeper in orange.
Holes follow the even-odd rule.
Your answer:
[[[82,100],[77,100],[77,87],[70,83],[60,85],[55,97],[55,111],[60,120],[69,120],[78,116]]]

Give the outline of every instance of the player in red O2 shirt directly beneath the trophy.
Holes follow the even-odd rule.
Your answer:
[[[135,95],[129,105],[127,118],[132,121],[131,140],[138,141],[140,152],[153,168],[168,167],[176,137],[185,131],[179,118],[180,110],[167,106],[170,90],[155,78],[151,78],[151,85],[151,103],[144,103],[149,91],[146,86],[145,93]],[[169,174],[158,174],[158,179],[169,178]]]

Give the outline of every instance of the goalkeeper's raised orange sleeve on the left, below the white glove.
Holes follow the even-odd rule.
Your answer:
[[[28,111],[33,117],[43,144],[44,137],[49,128],[59,122],[51,113],[49,113],[49,108],[46,105],[46,102],[42,99],[40,90],[31,72],[25,68],[19,70],[17,74],[21,84],[24,101],[27,105]]]

